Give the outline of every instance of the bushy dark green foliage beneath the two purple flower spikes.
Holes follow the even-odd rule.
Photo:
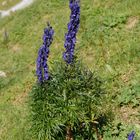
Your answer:
[[[102,84],[78,61],[71,65],[57,62],[50,79],[36,84],[30,94],[35,135],[49,140],[99,135],[108,120]]]

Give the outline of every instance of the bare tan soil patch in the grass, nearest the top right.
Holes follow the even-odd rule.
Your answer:
[[[139,22],[138,17],[130,17],[130,18],[128,18],[128,21],[126,23],[126,29],[134,28],[138,22]]]

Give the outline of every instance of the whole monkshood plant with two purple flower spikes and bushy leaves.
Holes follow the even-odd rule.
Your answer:
[[[71,16],[65,35],[62,61],[48,70],[49,47],[54,30],[44,30],[37,58],[37,83],[30,93],[33,136],[39,140],[101,139],[99,131],[107,122],[103,82],[74,55],[80,24],[80,3],[70,0]],[[103,121],[105,120],[105,121]]]

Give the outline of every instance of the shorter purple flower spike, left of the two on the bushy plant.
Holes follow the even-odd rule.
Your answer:
[[[48,56],[49,56],[49,47],[53,41],[54,30],[48,24],[48,27],[44,29],[43,35],[43,45],[40,47],[38,51],[38,57],[36,61],[36,75],[38,78],[38,82],[42,83],[49,79],[48,72]]]

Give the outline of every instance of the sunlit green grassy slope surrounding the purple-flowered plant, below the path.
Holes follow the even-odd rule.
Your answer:
[[[121,132],[124,138],[118,140],[125,140],[132,128],[140,128],[139,5],[138,0],[81,1],[76,51],[83,63],[105,80],[114,102],[114,124],[122,122],[126,126]],[[69,13],[68,0],[37,0],[0,19],[0,71],[7,74],[0,79],[0,139],[30,140],[26,101],[36,81],[35,60],[43,28],[50,21],[55,29],[49,61],[61,59]]]

